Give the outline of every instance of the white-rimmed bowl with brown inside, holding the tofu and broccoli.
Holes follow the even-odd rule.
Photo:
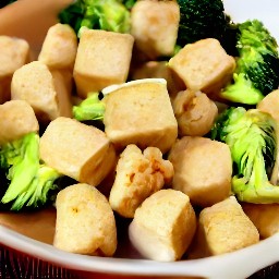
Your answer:
[[[57,21],[57,13],[70,0],[21,0],[0,10],[0,34],[25,38],[36,58],[49,26]],[[258,19],[265,23],[279,41],[279,2],[274,0],[223,0],[225,9],[235,22]],[[15,17],[16,16],[16,17]],[[1,214],[0,214],[1,216]],[[27,219],[26,219],[27,218]],[[114,257],[105,258],[71,254],[51,245],[54,214],[49,209],[44,218],[17,216],[1,219],[0,243],[51,264],[92,274],[146,277],[202,277],[202,278],[246,278],[259,269],[279,262],[279,233],[258,244],[240,251],[201,259],[182,259],[160,263],[144,259],[126,241],[129,222],[121,222],[120,244]],[[27,220],[27,221],[26,221]],[[21,226],[19,226],[21,225]],[[33,229],[31,229],[33,228]]]

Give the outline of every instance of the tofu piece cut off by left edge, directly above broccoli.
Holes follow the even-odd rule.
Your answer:
[[[25,100],[10,100],[0,105],[0,145],[39,131],[34,110]]]

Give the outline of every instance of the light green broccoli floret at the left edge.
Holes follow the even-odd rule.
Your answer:
[[[7,171],[8,190],[2,204],[12,203],[11,210],[37,208],[49,201],[50,190],[60,173],[39,160],[39,135],[28,133],[0,147],[0,168]]]

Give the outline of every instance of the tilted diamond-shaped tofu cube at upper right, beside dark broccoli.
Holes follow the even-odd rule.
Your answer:
[[[231,80],[235,60],[217,39],[206,38],[185,45],[170,59],[169,66],[189,89],[211,94]]]

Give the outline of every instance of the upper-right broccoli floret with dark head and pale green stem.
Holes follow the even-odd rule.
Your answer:
[[[277,41],[257,20],[239,24],[238,29],[233,82],[220,96],[233,102],[256,105],[279,86]]]

